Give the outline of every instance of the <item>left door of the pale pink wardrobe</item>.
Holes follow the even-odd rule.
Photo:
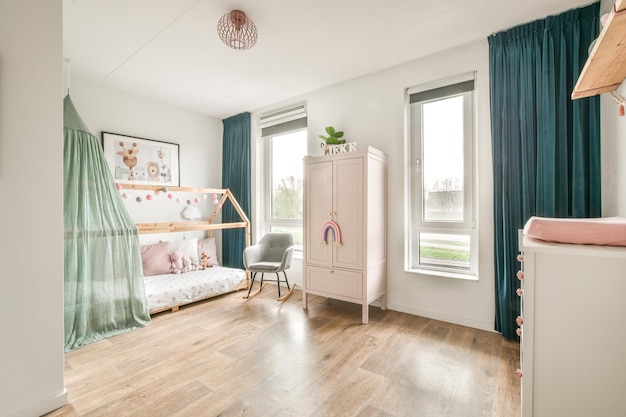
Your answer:
[[[332,241],[324,244],[321,231],[324,223],[332,220],[332,162],[307,163],[305,167],[306,263],[331,266]]]

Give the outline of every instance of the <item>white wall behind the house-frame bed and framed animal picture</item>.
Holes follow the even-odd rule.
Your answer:
[[[69,91],[83,122],[98,138],[104,131],[177,143],[181,186],[222,187],[223,125],[220,119],[75,77],[70,78]],[[136,222],[180,221],[184,201],[197,196],[177,194],[177,197],[183,198],[183,203],[168,200],[165,195],[152,201],[144,198],[138,203],[135,197],[145,197],[145,192],[126,192],[130,198],[125,200],[125,204]],[[215,208],[210,200],[201,200],[198,205],[204,219]],[[201,236],[203,233],[186,235]],[[178,234],[149,234],[141,235],[140,241],[151,243],[178,237]],[[219,233],[216,237],[219,248]]]

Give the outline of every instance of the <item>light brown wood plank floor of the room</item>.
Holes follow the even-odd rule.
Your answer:
[[[269,290],[269,291],[268,291]],[[47,416],[520,415],[519,347],[502,336],[275,287],[153,316],[65,356]]]

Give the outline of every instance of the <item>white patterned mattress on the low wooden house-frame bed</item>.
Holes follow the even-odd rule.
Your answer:
[[[214,266],[183,274],[152,275],[144,278],[150,313],[235,291],[245,283],[241,269]]]

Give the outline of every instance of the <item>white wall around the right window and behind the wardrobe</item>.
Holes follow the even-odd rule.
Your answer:
[[[404,271],[404,92],[408,87],[469,71],[477,71],[479,280],[408,273]],[[373,146],[387,154],[388,307],[493,330],[493,198],[487,41],[315,91],[296,97],[290,103],[300,101],[306,101],[308,107],[310,155],[321,153],[317,135],[328,125],[345,131],[346,139],[356,141],[360,149]],[[255,111],[253,119],[266,110],[268,108]]]

